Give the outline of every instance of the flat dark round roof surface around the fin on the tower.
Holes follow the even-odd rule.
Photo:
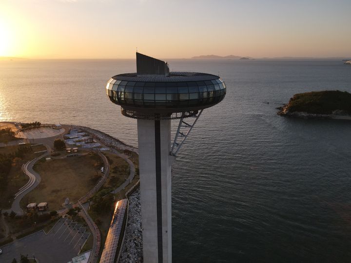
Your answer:
[[[218,79],[219,76],[198,73],[198,72],[170,72],[169,76],[148,75],[137,76],[137,73],[124,73],[112,77],[124,81],[144,81],[144,82],[182,82],[182,81],[204,81]]]

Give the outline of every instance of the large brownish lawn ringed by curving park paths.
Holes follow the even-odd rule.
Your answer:
[[[21,206],[30,202],[48,202],[50,210],[57,210],[62,208],[67,197],[72,203],[77,202],[97,183],[101,163],[95,153],[38,161],[34,169],[40,174],[41,182],[24,196]]]

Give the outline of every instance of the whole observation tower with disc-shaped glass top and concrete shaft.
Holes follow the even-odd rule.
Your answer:
[[[145,263],[172,262],[171,165],[202,111],[223,100],[216,75],[170,72],[167,62],[137,53],[137,73],[113,76],[110,100],[137,119]],[[171,140],[171,120],[179,119]]]

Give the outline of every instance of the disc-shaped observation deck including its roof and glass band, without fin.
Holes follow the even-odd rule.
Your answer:
[[[174,77],[173,77],[174,76]],[[169,77],[137,77],[121,74],[106,86],[110,100],[124,110],[180,113],[211,107],[226,94],[224,81],[216,75],[170,73]]]

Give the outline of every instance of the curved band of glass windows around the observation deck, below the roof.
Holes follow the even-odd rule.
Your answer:
[[[106,85],[110,100],[136,107],[184,108],[210,105],[221,101],[226,85],[220,79],[182,82],[121,81],[111,79]]]

